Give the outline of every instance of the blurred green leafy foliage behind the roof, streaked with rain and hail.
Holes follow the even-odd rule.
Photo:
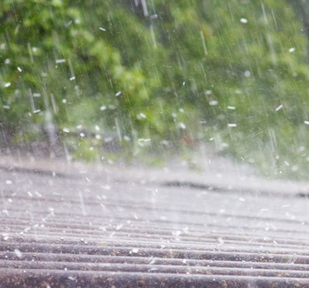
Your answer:
[[[108,143],[126,159],[205,143],[308,179],[308,6],[2,0],[2,134],[10,145],[48,135],[86,160]]]

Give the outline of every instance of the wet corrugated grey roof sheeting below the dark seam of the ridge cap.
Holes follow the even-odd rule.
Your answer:
[[[80,172],[0,169],[0,287],[309,287],[306,194]]]

